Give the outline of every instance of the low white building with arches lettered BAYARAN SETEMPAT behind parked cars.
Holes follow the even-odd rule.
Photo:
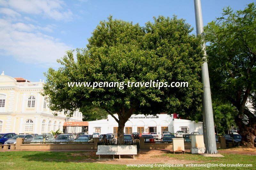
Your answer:
[[[117,115],[115,117],[118,118]],[[116,135],[117,133],[118,123],[111,115],[108,115],[108,119],[89,121],[88,123],[89,134],[98,132],[100,134],[114,133]],[[161,134],[163,131],[175,133],[178,130],[183,130],[185,133],[199,132],[203,134],[202,123],[173,119],[173,116],[167,114],[159,114],[157,116],[132,115],[125,123],[124,132],[125,134],[132,134],[132,132],[156,132]]]

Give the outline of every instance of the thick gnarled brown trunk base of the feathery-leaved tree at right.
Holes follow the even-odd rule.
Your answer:
[[[239,127],[239,134],[242,136],[241,144],[245,147],[254,147],[254,139],[256,136],[256,122],[248,120],[248,124],[244,124],[242,119],[236,118],[236,124]]]

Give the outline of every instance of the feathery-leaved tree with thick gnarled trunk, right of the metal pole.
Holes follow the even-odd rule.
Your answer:
[[[222,17],[204,27],[213,97],[228,100],[237,109],[241,143],[254,147],[256,136],[256,6],[223,10]],[[248,107],[248,103],[253,108]]]

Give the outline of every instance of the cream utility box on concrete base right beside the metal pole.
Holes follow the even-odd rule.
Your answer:
[[[191,134],[189,138],[191,139],[190,152],[192,154],[205,152],[204,135]]]

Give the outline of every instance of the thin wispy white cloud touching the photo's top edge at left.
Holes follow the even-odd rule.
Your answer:
[[[9,0],[11,9],[28,14],[40,14],[46,18],[55,20],[71,20],[73,13],[70,10],[64,10],[65,5],[60,0]]]

